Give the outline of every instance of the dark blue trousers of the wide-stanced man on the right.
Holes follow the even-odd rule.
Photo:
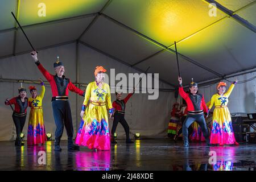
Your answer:
[[[187,118],[185,119],[183,125],[182,125],[182,134],[183,137],[188,137],[188,127],[196,121],[199,123],[199,126],[201,127],[201,130],[203,131],[203,135],[205,140],[208,140],[209,138],[209,132],[207,129],[207,125],[204,119],[204,114],[188,114]]]

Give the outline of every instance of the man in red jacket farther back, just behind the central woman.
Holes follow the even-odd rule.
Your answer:
[[[134,93],[134,89],[133,89]],[[133,93],[129,93],[123,100],[122,100],[122,93],[117,93],[115,92],[115,97],[117,97],[117,100],[115,100],[112,104],[115,113],[114,113],[114,121],[113,121],[113,126],[111,130],[111,135],[112,135],[112,143],[116,143],[114,140],[114,133],[115,130],[117,129],[118,122],[121,123],[123,128],[125,129],[125,134],[126,134],[126,143],[133,143],[133,141],[130,139],[130,128],[129,125],[127,124],[125,120],[125,105],[126,102],[129,100],[131,96],[133,96]]]

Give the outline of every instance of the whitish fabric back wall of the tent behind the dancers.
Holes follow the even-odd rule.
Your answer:
[[[119,63],[116,60],[102,55],[101,53],[94,51],[82,44],[78,45],[76,50],[76,43],[67,44],[65,46],[59,46],[55,48],[44,49],[39,51],[38,59],[43,66],[52,74],[54,74],[53,63],[56,61],[56,56],[60,57],[65,65],[65,76],[71,78],[72,82],[77,82],[77,65],[76,65],[76,51],[78,52],[78,65],[79,65],[79,82],[88,84],[94,81],[94,68],[97,65],[104,66],[108,71],[110,68],[115,68],[115,73],[135,73],[135,69],[127,67],[125,64]],[[9,57],[0,61],[0,78],[15,79],[15,80],[38,80],[43,77],[42,73],[36,68],[34,61],[29,53],[25,55],[19,55],[15,57]],[[36,85],[38,92],[40,92],[39,84],[24,83],[23,86]],[[18,96],[18,88],[20,83],[18,82],[0,82],[1,96],[0,100],[0,140],[13,140],[15,138],[15,127],[13,119],[11,118],[10,106],[5,106],[5,98],[12,98]],[[85,87],[80,86],[81,89]],[[159,82],[159,88],[170,88],[169,85]],[[28,93],[29,94],[29,93]],[[30,95],[29,95],[30,96]],[[123,94],[125,97],[126,94]],[[46,132],[55,133],[55,123],[52,114],[51,106],[51,88],[49,84],[46,84],[46,94],[43,99],[43,112],[44,122],[46,126]],[[78,102],[77,104],[77,97]],[[139,132],[144,138],[163,138],[167,136],[168,120],[170,119],[171,105],[175,102],[174,93],[172,92],[159,92],[158,100],[148,100],[148,94],[135,94],[126,106],[126,120],[130,125],[131,134]],[[115,100],[115,95],[112,94],[112,102]],[[77,96],[72,92],[69,92],[69,102],[71,104],[72,118],[74,132],[76,134],[77,126],[80,125],[80,106],[84,101],[83,97]],[[27,124],[30,109],[28,108],[28,114],[26,124],[23,132],[27,136]],[[110,129],[112,127],[112,121],[109,121]],[[121,125],[118,125],[117,134],[119,138],[125,137],[125,133]],[[75,135],[74,135],[75,138]],[[63,138],[67,139],[67,134],[63,132]]]

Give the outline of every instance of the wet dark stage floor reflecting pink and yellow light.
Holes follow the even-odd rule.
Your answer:
[[[118,140],[111,151],[80,147],[68,152],[67,141],[61,140],[61,152],[53,150],[53,141],[43,146],[17,148],[14,142],[0,142],[0,170],[146,170],[146,171],[256,171],[256,144],[208,147],[170,139],[135,140],[126,144]]]

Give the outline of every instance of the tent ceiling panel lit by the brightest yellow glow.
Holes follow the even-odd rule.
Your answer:
[[[220,10],[217,10],[218,16],[208,16],[209,7],[203,1],[146,2],[113,1],[104,13],[165,46],[170,46],[174,41],[186,38],[225,16]]]

